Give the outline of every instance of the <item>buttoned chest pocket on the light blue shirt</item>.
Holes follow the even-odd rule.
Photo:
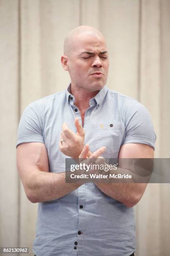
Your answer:
[[[125,135],[125,125],[122,122],[105,122],[97,124],[97,149],[105,146],[106,154],[119,152]]]

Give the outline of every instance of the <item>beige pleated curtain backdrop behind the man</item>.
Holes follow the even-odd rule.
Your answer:
[[[79,25],[104,34],[107,87],[148,108],[155,157],[170,157],[170,0],[0,0],[1,247],[29,246],[33,255],[37,204],[28,201],[18,177],[18,122],[30,102],[67,87],[63,41]],[[135,255],[169,256],[170,184],[148,184],[135,211]]]

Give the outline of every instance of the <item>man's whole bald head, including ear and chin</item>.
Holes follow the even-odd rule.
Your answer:
[[[88,93],[101,90],[106,84],[109,68],[107,46],[102,33],[89,26],[74,28],[65,38],[61,63],[70,74],[71,90],[81,88]]]

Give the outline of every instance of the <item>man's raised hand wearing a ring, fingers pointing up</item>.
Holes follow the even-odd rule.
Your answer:
[[[72,158],[78,158],[83,149],[85,139],[85,131],[78,118],[75,118],[75,127],[77,129],[77,133],[72,132],[67,127],[67,124],[63,123],[59,142],[60,151],[66,156],[70,156]],[[61,143],[62,139],[64,141]]]

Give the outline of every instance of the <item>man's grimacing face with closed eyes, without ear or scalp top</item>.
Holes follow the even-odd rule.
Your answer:
[[[74,40],[68,56],[72,87],[88,91],[101,90],[106,84],[109,59],[104,38],[82,34]]]

